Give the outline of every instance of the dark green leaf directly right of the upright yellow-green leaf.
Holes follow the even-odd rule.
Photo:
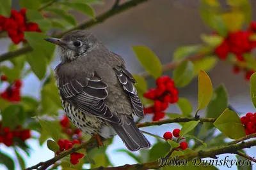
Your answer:
[[[214,90],[214,95],[206,110],[206,117],[218,118],[226,108],[228,108],[227,90],[220,85]]]

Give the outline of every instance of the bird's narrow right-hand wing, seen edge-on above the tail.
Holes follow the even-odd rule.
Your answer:
[[[143,105],[138,96],[136,87],[134,86],[134,83],[136,83],[136,80],[134,79],[132,74],[129,73],[129,71],[127,71],[124,67],[114,67],[113,69],[115,71],[115,74],[118,80],[120,81],[120,83],[122,83],[125,92],[127,92],[127,94],[131,99],[134,113],[138,117],[143,118],[144,117]]]

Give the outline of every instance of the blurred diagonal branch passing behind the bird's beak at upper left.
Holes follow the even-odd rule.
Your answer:
[[[60,38],[67,32],[70,32],[70,31],[73,31],[76,29],[88,29],[89,27],[100,24],[100,23],[104,22],[105,20],[107,20],[108,18],[113,17],[114,15],[117,15],[119,13],[122,13],[123,11],[126,11],[126,10],[137,6],[138,4],[144,3],[146,1],[148,1],[148,0],[127,1],[126,3],[120,4],[118,6],[118,8],[115,8],[115,10],[113,10],[111,8],[110,10],[106,11],[105,13],[102,13],[101,15],[95,17],[95,19],[83,22],[82,24],[77,25],[76,27],[73,27],[72,29],[69,29],[68,31],[65,31],[65,32],[62,32],[61,34],[55,35],[54,37]],[[18,50],[13,51],[13,52],[4,53],[3,55],[0,55],[0,62],[3,62],[4,60],[12,59],[14,57],[18,57],[24,53],[28,53],[31,51],[32,51],[32,48],[30,46],[24,46]]]

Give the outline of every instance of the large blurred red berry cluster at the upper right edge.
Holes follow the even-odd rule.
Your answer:
[[[246,31],[229,32],[227,37],[223,40],[220,46],[217,46],[214,53],[218,55],[221,60],[226,60],[228,53],[234,53],[238,61],[244,61],[243,54],[252,52],[256,47],[256,41],[250,39],[250,36],[256,32],[256,22],[252,22]],[[239,66],[233,67],[234,73],[241,71]],[[254,70],[244,69],[244,78],[250,80]]]

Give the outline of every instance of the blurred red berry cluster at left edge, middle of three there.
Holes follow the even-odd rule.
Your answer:
[[[4,75],[1,75],[1,81],[7,81],[8,78]],[[21,80],[15,80],[14,83],[10,84],[6,90],[1,92],[0,96],[3,99],[6,99],[10,102],[19,102],[20,101],[20,87],[22,87]]]

